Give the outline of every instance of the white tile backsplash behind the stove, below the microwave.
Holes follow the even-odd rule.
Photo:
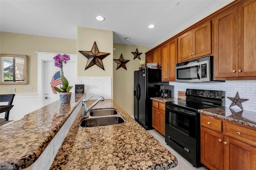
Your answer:
[[[223,106],[229,107],[231,100],[227,97],[234,98],[236,92],[242,99],[249,99],[242,102],[243,110],[256,111],[256,80],[226,80],[225,82],[205,82],[205,83],[178,83],[169,82],[173,85],[173,94],[176,98],[178,91],[186,91],[187,88],[201,89],[201,90],[221,90],[224,91],[225,98]],[[232,108],[240,109],[238,106]]]

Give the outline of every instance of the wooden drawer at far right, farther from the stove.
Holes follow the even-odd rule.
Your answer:
[[[225,122],[225,135],[256,147],[256,130]]]

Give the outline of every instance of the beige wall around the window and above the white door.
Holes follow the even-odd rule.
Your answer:
[[[76,39],[0,32],[0,53],[28,55],[28,84],[1,84],[0,94],[10,94],[8,88],[16,88],[15,94],[37,94],[36,51],[76,54]]]

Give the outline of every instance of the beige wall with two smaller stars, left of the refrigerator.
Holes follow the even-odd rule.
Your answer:
[[[124,45],[114,43],[114,57],[113,59],[119,59],[121,53],[125,60],[130,60],[126,63],[126,69],[117,68],[117,63],[113,60],[113,73],[114,73],[114,93],[113,100],[121,106],[128,114],[134,115],[134,71],[139,70],[140,61],[145,60],[145,53],[152,49],[152,47],[136,46],[136,45]],[[134,58],[132,52],[138,49],[140,59]]]

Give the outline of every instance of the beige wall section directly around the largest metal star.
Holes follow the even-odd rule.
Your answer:
[[[102,60],[104,70],[96,64],[85,69],[88,59],[79,51],[91,51],[94,41],[99,52],[110,53]],[[77,76],[88,77],[113,77],[113,31],[93,29],[86,27],[77,28]]]

